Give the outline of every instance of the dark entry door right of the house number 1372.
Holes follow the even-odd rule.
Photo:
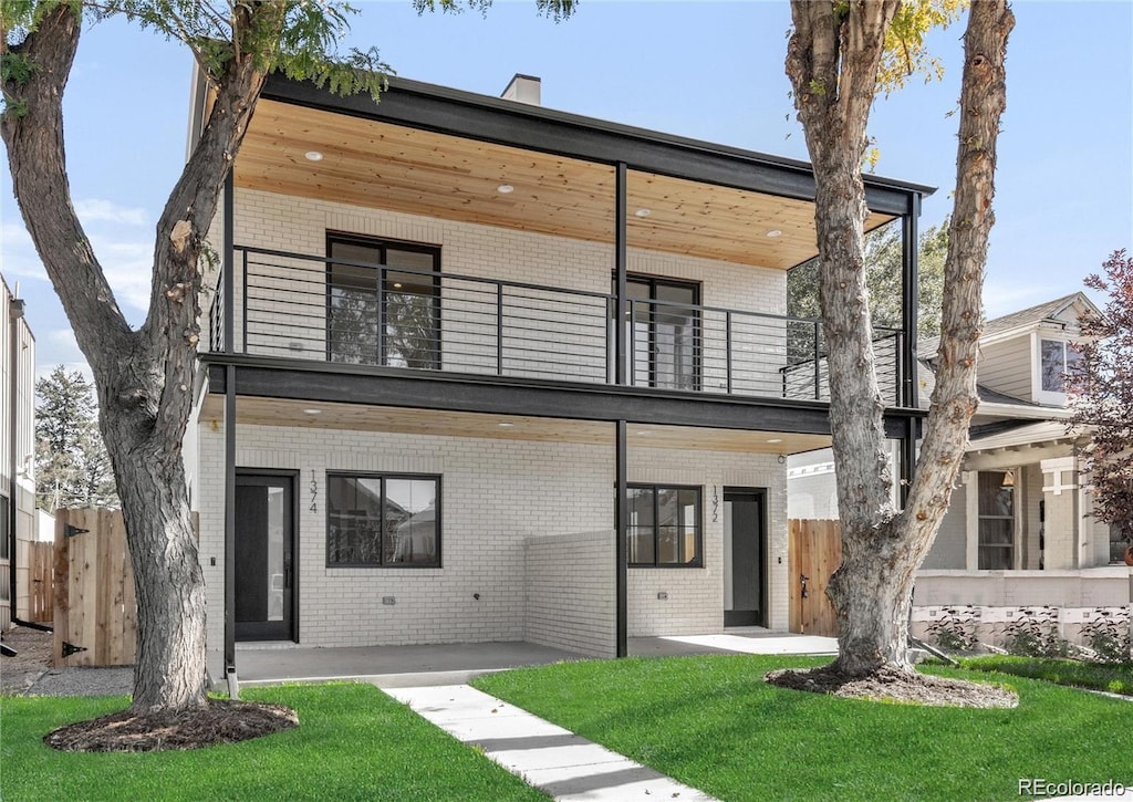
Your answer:
[[[724,488],[724,625],[767,624],[764,564],[767,494]]]

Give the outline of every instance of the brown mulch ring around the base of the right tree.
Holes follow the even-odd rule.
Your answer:
[[[811,669],[782,668],[764,679],[780,688],[811,693],[833,693],[847,699],[896,701],[930,707],[1015,707],[1019,696],[1002,685],[951,680],[943,676],[881,669],[872,674],[847,675],[835,664]]]

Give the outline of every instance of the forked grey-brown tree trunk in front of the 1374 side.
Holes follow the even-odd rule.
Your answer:
[[[138,602],[131,709],[191,709],[206,701],[204,579],[181,454],[197,368],[197,261],[264,76],[246,53],[225,66],[205,129],[157,222],[150,314],[131,331],[75,215],[65,168],[62,95],[82,17],[69,3],[43,8],[35,29],[12,49],[36,69],[5,82],[10,111],[0,134],[24,222],[99,392]],[[233,25],[278,27],[282,10],[241,6]]]

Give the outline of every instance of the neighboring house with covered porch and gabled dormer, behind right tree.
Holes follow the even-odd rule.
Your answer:
[[[1088,433],[1068,433],[1063,376],[1077,353],[1079,318],[1099,315],[1081,292],[988,321],[960,483],[918,575],[914,618],[944,606],[982,608],[989,625],[1019,607],[1063,608],[1065,624],[1085,611],[1128,605],[1133,577],[1116,530],[1091,510],[1081,475]],[[932,391],[935,340],[921,343],[921,406]],[[791,458],[792,518],[837,518],[828,450]],[[1002,626],[1000,626],[1002,629]],[[1072,628],[1064,628],[1072,633]]]

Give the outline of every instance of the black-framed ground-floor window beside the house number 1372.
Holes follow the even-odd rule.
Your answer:
[[[666,485],[627,487],[627,555],[636,568],[699,568],[700,488]]]

